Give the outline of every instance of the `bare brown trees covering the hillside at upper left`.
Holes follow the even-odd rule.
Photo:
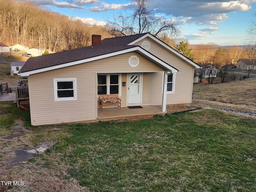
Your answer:
[[[0,42],[61,51],[88,46],[93,33],[111,37],[102,27],[52,12],[29,1],[0,1]]]

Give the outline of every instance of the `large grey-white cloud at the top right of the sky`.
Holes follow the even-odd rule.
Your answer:
[[[162,14],[186,20],[186,24],[216,25],[228,19],[227,13],[249,11],[256,0],[151,0]]]

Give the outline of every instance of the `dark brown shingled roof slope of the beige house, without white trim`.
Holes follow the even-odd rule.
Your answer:
[[[116,38],[106,38],[101,41],[100,45],[93,46],[93,48],[92,46],[87,46],[73,50],[56,52],[53,54],[31,57],[22,66],[20,72],[29,72],[138,47],[135,45],[128,46],[128,44],[144,36],[145,34],[147,33]]]

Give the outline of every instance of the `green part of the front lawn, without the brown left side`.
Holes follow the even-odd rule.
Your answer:
[[[253,191],[256,121],[230,115],[203,110],[132,123],[70,124],[71,136],[56,144],[56,152],[70,176],[91,191]],[[203,124],[194,121],[202,116]]]

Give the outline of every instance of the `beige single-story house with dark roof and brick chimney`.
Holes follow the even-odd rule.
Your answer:
[[[99,110],[101,94],[118,94],[122,108],[108,105],[113,112],[190,106],[195,68],[200,66],[144,33],[104,40],[92,35],[92,46],[29,58],[20,73],[28,77],[36,126],[96,121],[105,109]]]

